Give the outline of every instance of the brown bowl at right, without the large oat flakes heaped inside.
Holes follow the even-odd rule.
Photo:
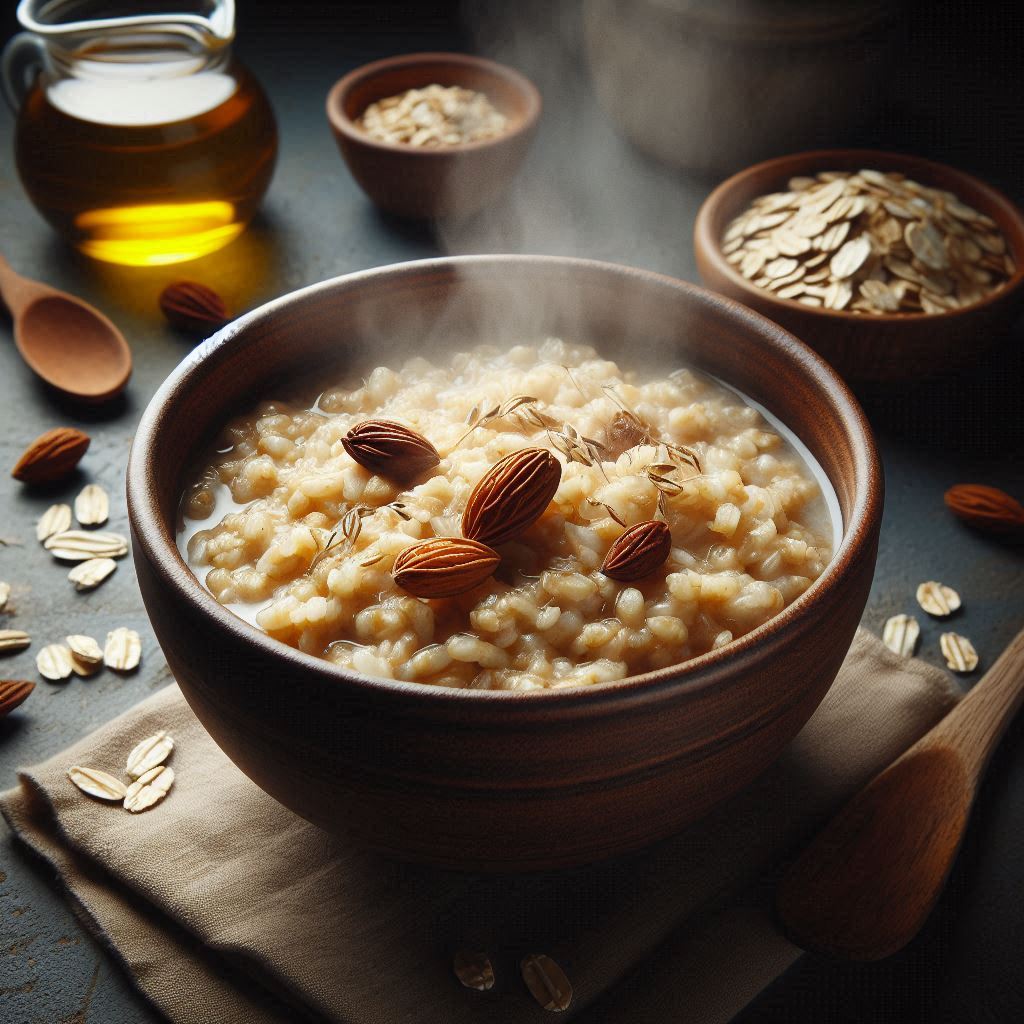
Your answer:
[[[871,167],[900,171],[922,184],[947,188],[987,213],[1006,236],[1017,272],[990,297],[944,313],[860,315],[801,305],[757,288],[722,254],[729,222],[758,196],[783,190],[795,175]],[[693,230],[705,284],[738,299],[792,331],[851,382],[911,380],[962,369],[1004,339],[1024,310],[1024,215],[1001,193],[970,174],[919,157],[873,150],[823,150],[779,157],[722,182],[705,201]]]

